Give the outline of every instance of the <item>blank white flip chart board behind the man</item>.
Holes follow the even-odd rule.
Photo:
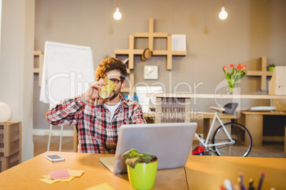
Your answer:
[[[59,101],[82,94],[94,81],[90,47],[46,42],[40,101]]]

